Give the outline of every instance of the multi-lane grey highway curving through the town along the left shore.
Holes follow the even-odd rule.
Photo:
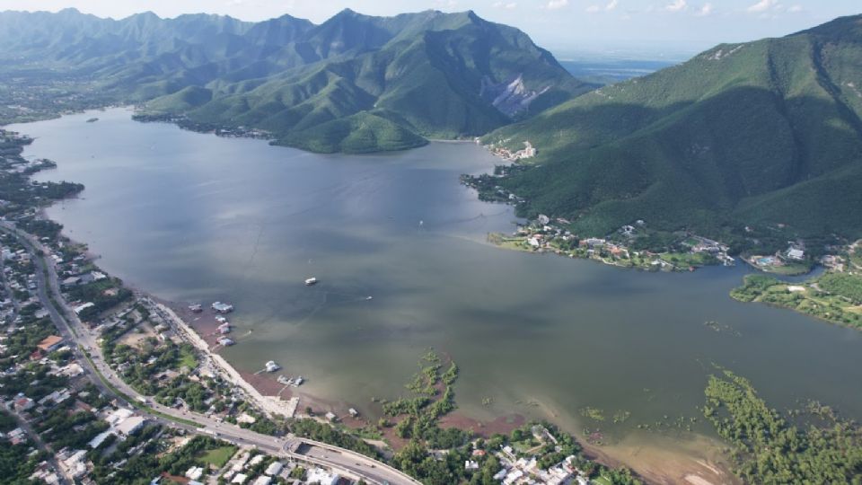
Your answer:
[[[337,446],[327,445],[302,437],[288,435],[286,438],[270,437],[255,433],[249,429],[240,428],[230,423],[219,422],[202,414],[191,411],[169,408],[142,396],[126,384],[108,366],[101,355],[101,346],[96,343],[97,335],[84,325],[75,312],[66,304],[60,294],[59,278],[54,265],[45,258],[48,254],[42,244],[31,234],[27,234],[7,222],[0,222],[0,230],[13,234],[19,242],[31,253],[36,265],[36,279],[40,302],[48,310],[51,321],[57,327],[60,336],[69,342],[75,342],[73,347],[78,363],[84,369],[93,384],[106,395],[117,397],[120,401],[138,408],[147,419],[173,428],[182,428],[189,432],[207,434],[228,441],[234,445],[253,445],[268,454],[290,458],[306,463],[332,468],[339,474],[356,480],[363,479],[369,483],[391,485],[421,485],[409,475],[399,472],[391,466],[378,462],[364,454],[358,454]],[[46,274],[48,278],[45,278]],[[51,299],[53,296],[53,302]],[[57,303],[57,306],[54,304]],[[84,355],[84,348],[87,355]],[[89,356],[89,357],[88,357]],[[104,381],[102,380],[104,379]],[[110,385],[108,385],[110,384]],[[116,390],[116,391],[115,391]],[[119,391],[119,393],[118,393]],[[131,402],[135,400],[138,402]],[[145,400],[146,407],[141,408]],[[167,418],[166,418],[167,417]],[[191,423],[194,423],[192,425]]]

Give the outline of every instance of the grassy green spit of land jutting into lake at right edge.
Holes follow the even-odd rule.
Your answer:
[[[795,291],[791,291],[791,288]],[[790,285],[766,275],[747,275],[730,295],[741,302],[774,304],[862,330],[862,276],[827,273]]]

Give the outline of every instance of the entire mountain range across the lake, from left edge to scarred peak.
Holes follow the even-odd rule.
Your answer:
[[[147,115],[184,126],[259,128],[321,152],[484,135],[594,87],[523,32],[472,12],[347,9],[320,25],[4,12],[0,64],[0,75],[67,75],[82,95],[145,102]]]

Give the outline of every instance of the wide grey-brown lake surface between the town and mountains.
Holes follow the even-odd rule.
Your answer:
[[[305,392],[369,415],[433,347],[461,367],[457,401],[476,419],[520,413],[579,432],[599,426],[585,407],[629,411],[601,425],[623,438],[698,416],[713,365],[774,407],[818,399],[862,419],[862,333],[734,302],[748,269],[651,274],[489,246],[515,216],[459,184],[497,162],[477,145],[307,154],[128,110],[11,128],[37,138],[26,156],[58,163],[38,179],[85,184],[48,216],[102,268],[172,301],[235,304],[239,343],[223,353],[235,366],[275,360],[308,378]],[[321,284],[305,287],[312,276]]]

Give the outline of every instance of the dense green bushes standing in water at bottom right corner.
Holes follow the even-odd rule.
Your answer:
[[[712,375],[704,416],[732,446],[734,472],[750,483],[860,483],[862,429],[828,408],[793,421],[770,409],[752,384],[730,371]]]

